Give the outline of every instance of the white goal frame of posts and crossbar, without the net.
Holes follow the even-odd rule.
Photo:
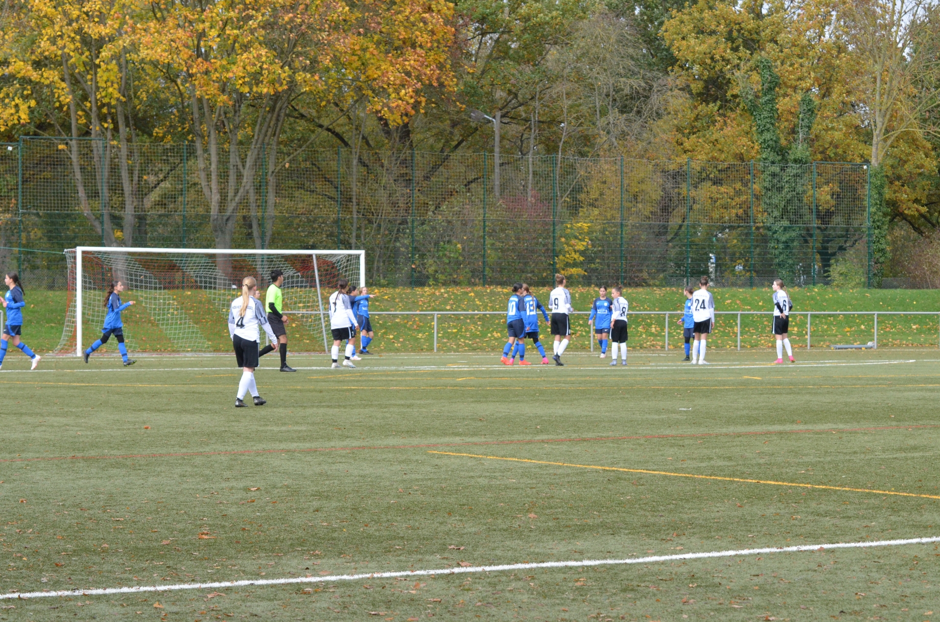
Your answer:
[[[133,246],[76,246],[75,247],[75,356],[82,356],[82,303],[85,288],[82,287],[82,255],[84,253],[149,253],[153,255],[310,255],[313,256],[313,272],[317,282],[317,300],[320,304],[320,322],[323,330],[323,347],[326,348],[326,321],[323,318],[323,299],[320,291],[320,272],[317,269],[317,256],[358,255],[359,287],[366,285],[366,251],[342,251],[329,249],[305,250],[258,250],[254,248],[140,248]]]

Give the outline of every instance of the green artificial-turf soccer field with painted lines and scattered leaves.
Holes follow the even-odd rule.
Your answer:
[[[236,410],[230,355],[11,353],[0,592],[178,589],[0,619],[933,619],[940,352],[797,357],[272,355]]]

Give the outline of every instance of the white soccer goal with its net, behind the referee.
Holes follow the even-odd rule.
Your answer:
[[[124,338],[133,351],[212,352],[230,350],[229,304],[241,295],[242,279],[254,276],[261,300],[270,272],[284,272],[281,288],[291,316],[294,345],[326,346],[324,312],[340,278],[365,285],[365,251],[257,251],[79,246],[66,251],[69,264],[68,310],[57,353],[83,350],[102,332],[104,295],[112,282],[126,290]],[[267,303],[265,303],[267,309]],[[262,339],[264,341],[264,339]],[[113,346],[117,351],[117,344]]]

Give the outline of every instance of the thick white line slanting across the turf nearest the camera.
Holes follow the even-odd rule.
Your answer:
[[[936,537],[912,537],[905,540],[875,540],[873,542],[838,542],[835,544],[816,544],[795,547],[769,547],[766,549],[740,549],[738,551],[687,552],[678,555],[653,555],[634,559],[585,559],[568,562],[538,562],[532,564],[503,564],[500,566],[471,566],[467,568],[438,568],[433,570],[399,570],[396,572],[368,572],[361,574],[337,574],[325,577],[289,577],[285,579],[245,579],[243,581],[219,581],[213,583],[170,583],[166,585],[135,585],[133,587],[88,588],[85,590],[50,590],[42,592],[8,592],[0,594],[0,599],[43,599],[64,596],[103,596],[106,594],[140,594],[143,592],[170,592],[175,590],[202,590],[243,585],[286,585],[290,583],[332,583],[334,581],[360,581],[363,579],[393,579],[396,577],[434,576],[446,574],[466,574],[469,572],[502,572],[505,570],[527,570],[532,568],[576,568],[587,566],[619,566],[624,564],[650,564],[671,562],[683,559],[704,559],[709,557],[739,557],[743,555],[762,555],[774,552],[809,552],[832,549],[867,549],[870,547],[895,547],[905,544],[929,544],[940,542]]]

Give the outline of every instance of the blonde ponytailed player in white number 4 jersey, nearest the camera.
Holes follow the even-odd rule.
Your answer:
[[[255,383],[255,367],[258,366],[258,329],[264,329],[271,341],[271,349],[277,350],[277,337],[268,323],[268,314],[264,312],[261,301],[255,297],[258,282],[253,276],[242,279],[242,295],[232,301],[228,307],[228,336],[232,339],[235,360],[242,367],[242,380],[238,383],[235,408],[244,407],[244,394],[250,392],[255,406],[263,406],[266,401],[258,395]]]

